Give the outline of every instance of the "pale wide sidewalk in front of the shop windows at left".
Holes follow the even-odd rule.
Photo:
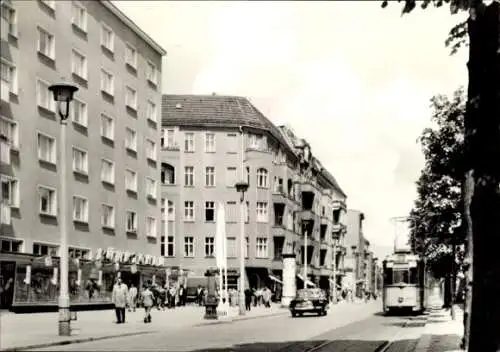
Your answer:
[[[71,322],[72,336],[58,336],[57,313],[5,313],[0,316],[0,350],[26,350],[66,345],[213,323],[213,320],[203,319],[204,313],[205,308],[199,306],[178,307],[165,311],[154,309],[151,313],[153,322],[144,324],[144,312],[141,309],[132,313],[127,311],[126,323],[115,324],[113,310],[78,312],[77,320]],[[278,304],[267,309],[252,307],[245,316],[234,316],[231,321],[282,314],[288,314],[288,310]]]

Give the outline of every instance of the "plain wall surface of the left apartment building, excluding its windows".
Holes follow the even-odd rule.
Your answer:
[[[10,36],[2,43],[2,60],[15,66],[17,72],[17,94],[11,94],[8,103],[2,102],[0,113],[17,123],[19,134],[18,151],[12,153],[10,165],[2,165],[2,174],[19,181],[18,209],[12,211],[12,224],[2,227],[2,235],[24,241],[23,250],[31,253],[34,242],[57,245],[59,242],[58,217],[39,214],[38,185],[59,188],[60,160],[55,165],[40,162],[37,156],[37,132],[56,139],[59,155],[59,122],[55,112],[37,106],[36,80],[49,84],[64,79],[76,85],[76,98],[87,105],[88,125],[69,122],[67,127],[68,205],[72,207],[73,195],[88,200],[88,222],[70,220],[69,244],[95,250],[108,246],[119,250],[159,255],[158,238],[146,238],[145,219],[157,219],[160,228],[160,187],[157,186],[157,202],[148,201],[145,179],[159,180],[158,163],[148,162],[145,140],[160,144],[159,124],[146,118],[147,101],[156,104],[159,119],[161,104],[161,54],[127,27],[112,12],[98,1],[80,3],[86,6],[86,31],[72,24],[72,2],[55,1],[54,9],[42,1],[15,1],[12,6],[17,16],[17,37]],[[101,24],[105,23],[114,32],[114,50],[109,52],[101,46]],[[37,29],[43,28],[55,38],[55,56],[47,58],[37,52]],[[132,44],[138,54],[135,70],[126,66],[125,45]],[[5,50],[4,50],[5,49]],[[86,57],[87,77],[72,74],[72,50]],[[147,62],[157,68],[157,84],[146,79]],[[104,68],[114,75],[114,97],[104,97],[100,88],[100,70]],[[125,86],[137,91],[137,109],[125,107]],[[51,97],[52,98],[52,97]],[[105,141],[100,133],[100,117],[105,113],[114,118],[114,141]],[[127,153],[124,146],[125,128],[136,130],[137,153]],[[79,176],[71,172],[73,146],[88,153],[88,175]],[[106,187],[100,179],[101,158],[115,162],[114,187]],[[125,169],[137,172],[138,192],[128,195],[125,191]],[[59,195],[58,195],[59,196]],[[101,204],[115,207],[115,228],[104,230],[101,226]],[[125,211],[133,210],[138,216],[137,235],[125,233]],[[60,211],[60,209],[59,209]],[[71,211],[71,210],[70,210]],[[158,233],[159,231],[157,231]]]

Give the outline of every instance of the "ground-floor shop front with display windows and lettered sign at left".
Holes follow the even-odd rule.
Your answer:
[[[7,278],[12,282],[12,288],[2,290],[2,308],[14,312],[56,310],[59,262],[60,258],[51,256],[2,255],[0,275],[4,281]],[[129,286],[134,284],[142,288],[147,281],[164,282],[166,276],[167,270],[162,265],[161,257],[114,250],[98,251],[93,260],[70,260],[70,302],[76,310],[108,308],[117,277]]]

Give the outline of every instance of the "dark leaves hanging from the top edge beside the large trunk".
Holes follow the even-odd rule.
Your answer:
[[[397,0],[398,2],[403,2],[402,15],[411,13],[417,8],[417,4],[420,5],[422,10],[425,10],[430,6],[436,8],[442,7],[443,5],[449,5],[450,12],[452,15],[457,14],[460,11],[469,11],[471,9],[477,8],[483,4],[482,0]],[[389,2],[387,0],[382,1],[382,8],[386,8]],[[468,45],[467,36],[467,21],[460,22],[451,28],[448,33],[448,38],[445,41],[446,47],[451,48],[451,54],[455,54],[461,47]]]

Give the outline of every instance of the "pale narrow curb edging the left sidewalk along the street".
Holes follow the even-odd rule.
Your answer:
[[[192,325],[190,327],[201,327],[201,326],[206,326],[206,325],[217,325],[217,324],[230,324],[230,323],[242,321],[242,320],[268,318],[268,317],[280,316],[280,315],[285,315],[285,314],[286,314],[286,312],[276,312],[276,313],[267,314],[267,315],[257,315],[257,316],[236,318],[234,320],[217,320],[214,322],[203,322],[200,324],[195,324],[195,325]],[[153,333],[160,332],[160,331],[161,330],[138,331],[138,332],[128,332],[128,333],[106,335],[106,336],[99,336],[99,337],[89,336],[89,337],[82,337],[82,338],[77,338],[77,339],[67,339],[67,340],[61,340],[61,341],[45,342],[45,343],[39,343],[39,344],[33,344],[33,345],[27,345],[27,346],[0,348],[0,351],[2,351],[2,352],[4,352],[4,351],[5,352],[7,352],[7,351],[26,351],[26,350],[46,348],[46,347],[52,347],[52,346],[64,346],[64,345],[73,345],[73,344],[77,344],[77,343],[109,340],[109,339],[115,339],[115,338],[120,338],[120,337],[147,335],[147,334],[153,334]]]

